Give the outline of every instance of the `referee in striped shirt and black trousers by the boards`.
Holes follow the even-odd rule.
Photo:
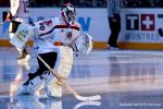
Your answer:
[[[118,49],[117,38],[121,31],[121,16],[120,16],[121,7],[122,0],[108,0],[108,20],[111,31],[108,40],[108,47],[110,50]]]

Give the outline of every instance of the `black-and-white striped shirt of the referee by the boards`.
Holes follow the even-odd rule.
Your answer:
[[[113,17],[114,13],[120,13],[122,0],[108,0],[108,15]]]

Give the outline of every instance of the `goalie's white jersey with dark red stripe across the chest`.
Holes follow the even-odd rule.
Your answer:
[[[36,33],[34,37],[34,48],[37,53],[54,51],[55,48],[58,48],[58,46],[54,46],[54,43],[72,43],[79,35],[79,28],[78,23],[68,25],[60,17],[38,21],[34,27]],[[71,36],[67,35],[70,32],[72,34]]]

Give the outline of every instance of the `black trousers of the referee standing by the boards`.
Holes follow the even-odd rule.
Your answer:
[[[109,24],[110,24],[110,37],[108,40],[108,44],[111,47],[116,47],[116,43],[117,43],[117,38],[118,38],[118,34],[121,31],[121,17],[120,14],[114,14],[113,17],[109,17]]]

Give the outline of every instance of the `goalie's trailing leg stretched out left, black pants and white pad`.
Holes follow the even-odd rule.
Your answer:
[[[48,52],[39,55],[47,64],[51,68],[54,66],[57,60],[57,52]],[[28,73],[28,78],[20,87],[18,94],[35,94],[45,86],[45,82],[48,82],[53,77],[45,64],[38,60],[38,70],[35,73]]]

